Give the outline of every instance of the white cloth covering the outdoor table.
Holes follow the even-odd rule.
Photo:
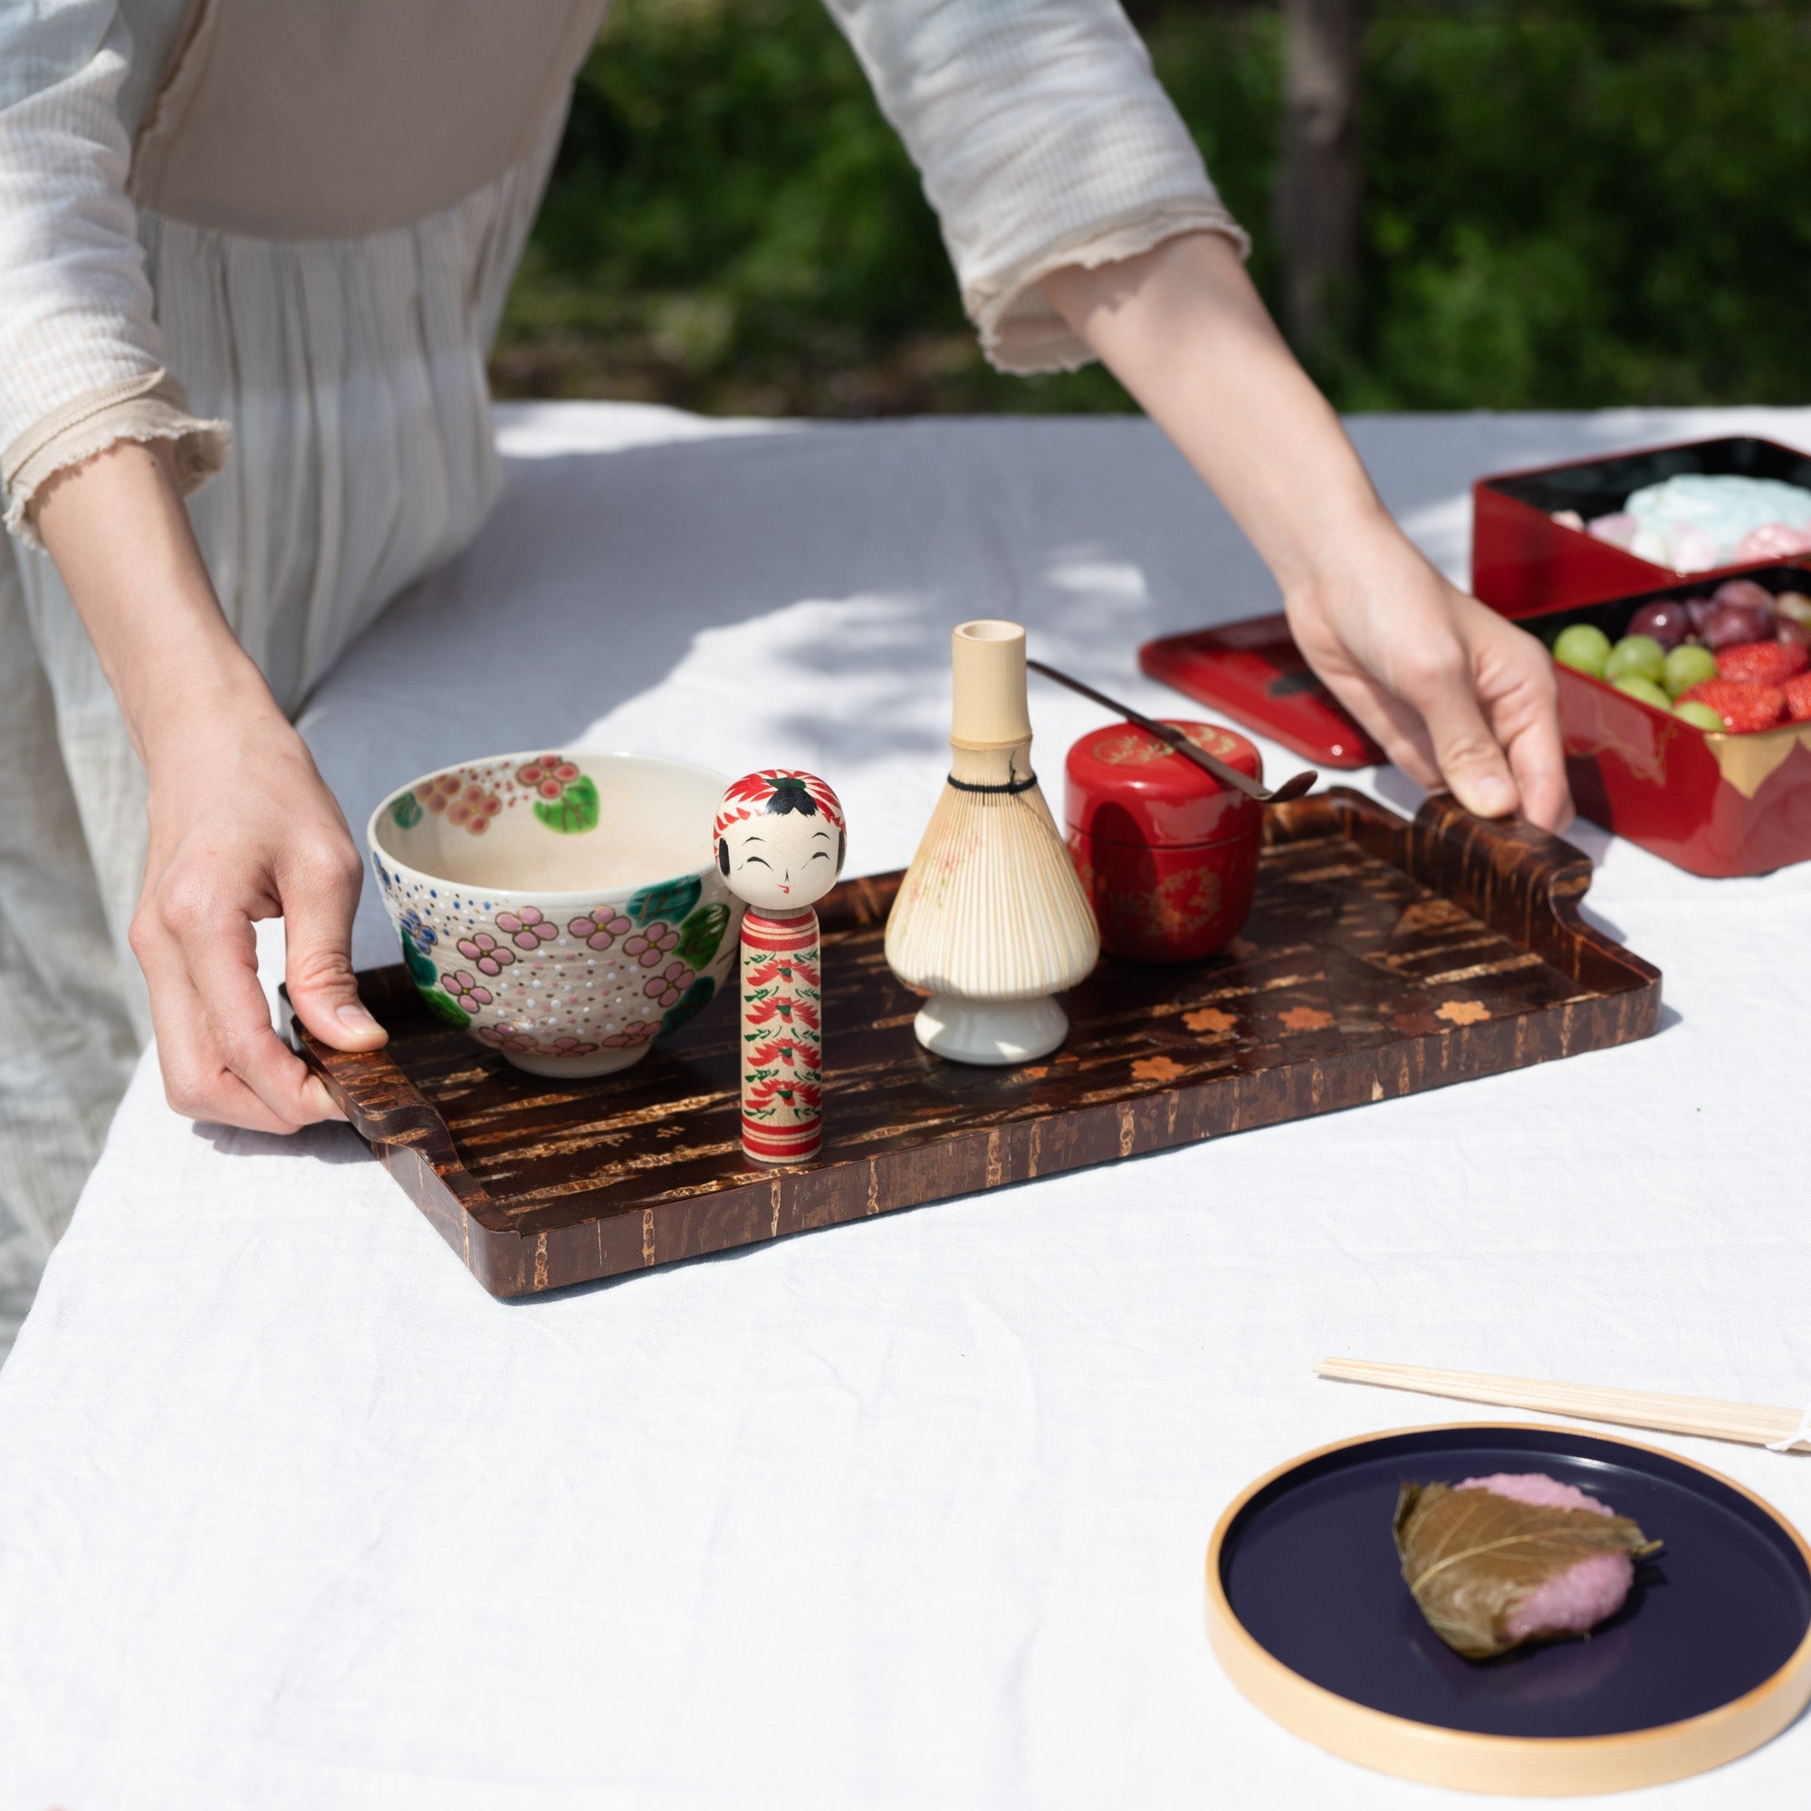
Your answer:
[[[1474,474],[1730,424],[1811,442],[1355,431],[1463,572]],[[1135,645],[1273,599],[1130,420],[547,406],[503,440],[480,543],[308,708],[360,831],[436,762],[603,743],[822,771],[851,871],[895,866],[953,621],[1175,708]],[[1034,719],[1054,775],[1099,714]],[[190,1126],[147,1059],[0,1371],[0,1807],[1433,1804],[1270,1724],[1203,1635],[1250,1478],[1467,1414],[1309,1364],[1811,1396],[1811,866],[1577,840],[1666,971],[1648,1043],[551,1300],[489,1300],[348,1130]],[[395,960],[369,898],[357,956]],[[1811,1527],[1811,1460],[1661,1443]],[[1652,1802],[1807,1780],[1800,1726]]]

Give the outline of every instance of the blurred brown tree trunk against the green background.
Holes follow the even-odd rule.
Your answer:
[[[1284,324],[1298,351],[1327,328],[1358,277],[1358,69],[1365,0],[1282,0]]]

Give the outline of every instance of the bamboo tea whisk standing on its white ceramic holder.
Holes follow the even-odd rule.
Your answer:
[[[1099,931],[1030,766],[1025,630],[960,623],[951,670],[949,779],[887,918],[887,963],[931,996],[925,1049],[1030,1061],[1067,1036],[1050,996],[1088,974]]]

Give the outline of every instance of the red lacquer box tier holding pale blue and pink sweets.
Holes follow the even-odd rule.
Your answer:
[[[1472,485],[1472,592],[1519,618],[1672,585],[1682,574],[1554,522],[1554,513],[1570,509],[1588,523],[1619,511],[1644,485],[1684,473],[1777,478],[1811,489],[1811,458],[1751,435],[1480,478]],[[1711,590],[1746,565],[1693,578]]]

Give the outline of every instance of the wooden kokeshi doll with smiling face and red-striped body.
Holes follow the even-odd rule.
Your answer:
[[[815,773],[744,773],[717,806],[717,867],[743,915],[743,1150],[810,1163],[824,1143],[824,980],[811,909],[842,873],[848,833]]]

